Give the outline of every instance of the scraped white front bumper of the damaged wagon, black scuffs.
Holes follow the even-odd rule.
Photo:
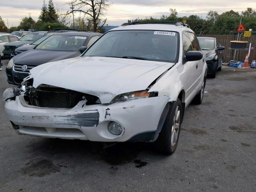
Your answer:
[[[163,124],[160,117],[168,100],[152,97],[110,105],[80,101],[74,108],[63,109],[31,106],[20,95],[6,101],[5,111],[18,134],[97,142],[150,142],[156,139],[159,124]],[[122,126],[120,135],[109,132],[110,122]]]

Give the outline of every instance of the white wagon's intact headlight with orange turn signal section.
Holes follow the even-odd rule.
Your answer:
[[[158,96],[158,92],[148,93],[147,90],[129,92],[129,93],[120,94],[114,97],[114,99],[110,102],[110,104],[116,103],[116,102],[125,102],[125,101],[130,101],[135,99],[148,98],[148,97],[156,97],[156,96]]]

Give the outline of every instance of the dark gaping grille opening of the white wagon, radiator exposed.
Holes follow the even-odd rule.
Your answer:
[[[30,105],[46,108],[73,108],[85,99],[86,105],[96,104],[96,101],[100,103],[96,96],[49,85],[31,88],[25,92],[24,98]]]

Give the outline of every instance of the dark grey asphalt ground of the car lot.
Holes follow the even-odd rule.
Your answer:
[[[7,88],[5,67],[0,93]],[[234,71],[235,70],[235,71]],[[99,150],[78,140],[17,135],[0,102],[1,192],[255,192],[256,70],[222,68],[186,109],[176,152],[144,143]]]

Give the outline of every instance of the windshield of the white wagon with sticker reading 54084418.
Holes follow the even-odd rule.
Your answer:
[[[83,56],[175,62],[177,55],[177,32],[120,30],[104,34]]]

